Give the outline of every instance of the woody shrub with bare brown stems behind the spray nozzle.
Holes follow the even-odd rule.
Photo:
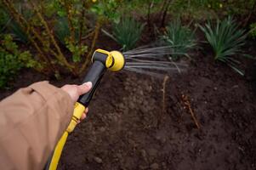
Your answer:
[[[43,72],[58,77],[60,68],[70,71],[74,76],[86,69],[94,53],[100,27],[107,20],[105,10],[113,13],[117,9],[109,5],[119,2],[113,1],[2,1],[0,6],[6,9],[16,24],[10,26],[12,33],[15,31],[14,34],[21,37],[20,40],[30,43],[28,47],[33,48],[35,59],[43,65]],[[102,5],[108,8],[100,10],[96,20],[92,21],[92,6]],[[59,42],[65,45],[68,52],[63,50]]]

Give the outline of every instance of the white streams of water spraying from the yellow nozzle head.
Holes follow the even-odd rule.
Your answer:
[[[168,60],[174,54],[174,46],[144,46],[122,53],[126,59],[124,70],[134,71],[153,77],[185,71],[187,65]],[[175,53],[178,54],[178,53]],[[170,59],[170,58],[169,58]]]

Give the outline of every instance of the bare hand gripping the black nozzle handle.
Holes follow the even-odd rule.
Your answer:
[[[85,82],[82,85],[75,84],[66,84],[61,89],[64,90],[67,94],[71,96],[71,100],[76,103],[77,99],[80,95],[88,93],[88,91],[92,88],[92,82]],[[88,112],[88,108],[82,113],[81,119],[83,120],[86,117]],[[80,122],[80,121],[79,121]]]

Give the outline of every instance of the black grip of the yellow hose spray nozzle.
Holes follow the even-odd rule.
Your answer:
[[[84,79],[82,81],[82,83],[92,82],[93,86],[87,94],[81,95],[79,97],[79,99],[77,100],[77,102],[79,102],[80,104],[82,104],[86,107],[89,105],[90,100],[94,96],[94,92],[96,91],[96,88],[100,84],[101,78],[105,74],[105,71],[106,71],[105,65],[103,65],[102,62],[95,60],[93,65],[91,65],[88,73],[86,74],[86,76],[84,77]]]

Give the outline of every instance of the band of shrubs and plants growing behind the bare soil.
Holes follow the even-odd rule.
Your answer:
[[[124,51],[135,48],[148,32],[152,41],[175,46],[170,59],[184,56],[179,53],[192,58],[190,52],[204,34],[213,60],[244,75],[237,57],[244,56],[241,49],[256,35],[253,0],[0,1],[1,88],[23,67],[56,78],[79,76],[102,32]]]

